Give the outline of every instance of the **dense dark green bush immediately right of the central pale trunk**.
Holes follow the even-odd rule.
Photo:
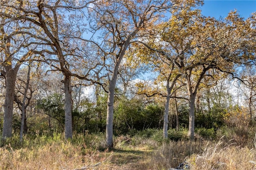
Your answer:
[[[141,100],[120,98],[114,108],[114,132],[121,135],[134,129],[161,128],[163,111],[157,104],[145,106]]]

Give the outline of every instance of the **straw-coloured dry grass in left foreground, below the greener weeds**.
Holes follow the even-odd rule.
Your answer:
[[[113,169],[109,152],[83,153],[83,148],[71,143],[52,143],[36,148],[13,150],[11,146],[0,148],[1,170],[71,170],[87,166],[87,169]],[[93,166],[95,165],[96,166]],[[90,168],[91,166],[91,168]]]

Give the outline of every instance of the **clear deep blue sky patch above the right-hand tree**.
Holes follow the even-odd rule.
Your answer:
[[[256,12],[256,0],[205,0],[201,7],[204,16],[215,18],[225,18],[234,9],[246,19],[252,12]]]

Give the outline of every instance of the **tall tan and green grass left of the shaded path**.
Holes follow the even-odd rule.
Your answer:
[[[99,151],[102,147],[102,134],[76,135],[73,141],[64,141],[62,134],[53,137],[36,137],[34,140],[24,137],[19,143],[16,135],[7,139],[0,148],[1,170],[55,170],[79,169],[87,166],[94,169],[110,169],[112,153]],[[103,140],[104,141],[104,140]]]

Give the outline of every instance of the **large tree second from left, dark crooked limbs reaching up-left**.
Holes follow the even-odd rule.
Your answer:
[[[82,36],[82,23],[80,16],[69,15],[69,21],[78,21],[77,27],[68,27],[68,22],[65,22],[65,16],[61,12],[69,12],[68,10],[79,10],[85,8],[90,1],[82,4],[74,4],[72,1],[62,2],[60,0],[37,2],[14,1],[14,5],[9,3],[3,3],[5,9],[12,9],[16,11],[18,15],[1,13],[6,18],[11,18],[16,21],[25,21],[34,28],[33,31],[23,32],[26,35],[31,35],[37,41],[29,42],[28,44],[36,45],[36,48],[32,50],[33,55],[37,56],[37,60],[47,63],[52,71],[60,71],[64,75],[64,93],[65,93],[65,138],[72,138],[72,95],[71,95],[71,77],[77,76],[79,78],[86,79],[88,74],[79,76],[73,73],[71,70],[72,65],[70,61],[74,58],[72,56],[80,57],[77,55],[83,44],[78,44],[74,41],[74,37],[70,38],[70,34],[76,34],[78,37]],[[17,6],[19,4],[19,6]],[[77,17],[77,18],[76,18]],[[76,20],[77,19],[77,20]],[[72,25],[72,26],[74,26]],[[73,30],[71,30],[73,29]],[[28,45],[27,44],[27,45]],[[80,45],[78,47],[78,45]],[[84,53],[83,53],[84,54]],[[39,55],[39,56],[38,56]],[[42,59],[40,58],[42,57]],[[78,60],[74,60],[78,61]],[[89,72],[88,72],[89,73]]]

